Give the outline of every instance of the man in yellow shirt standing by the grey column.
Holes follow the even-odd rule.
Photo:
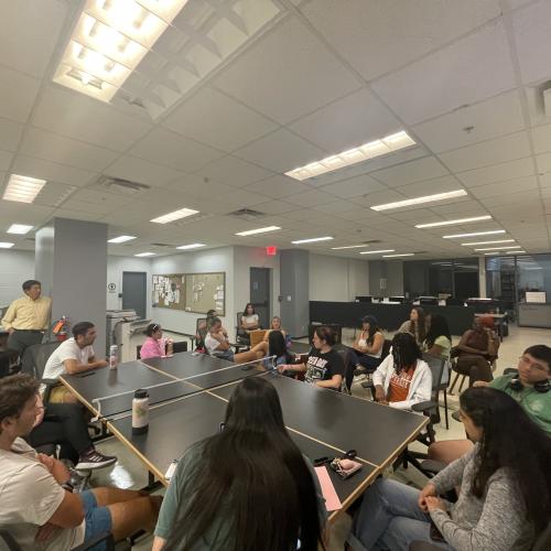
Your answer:
[[[25,296],[13,301],[2,317],[2,326],[10,334],[8,348],[20,354],[28,346],[42,343],[44,332],[50,326],[52,310],[52,299],[41,296],[40,281],[25,281],[23,292]]]

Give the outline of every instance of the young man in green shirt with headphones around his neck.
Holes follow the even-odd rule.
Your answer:
[[[534,345],[527,348],[518,361],[518,374],[497,377],[489,386],[514,398],[528,417],[551,437],[551,348]],[[442,440],[429,446],[431,460],[451,463],[473,449],[469,440]]]

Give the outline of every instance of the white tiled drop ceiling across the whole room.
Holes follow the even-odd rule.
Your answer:
[[[260,4],[267,13],[247,28]],[[61,216],[137,236],[109,245],[122,256],[193,242],[289,248],[328,235],[333,241],[301,247],[366,258],[331,247],[378,240],[366,249],[457,258],[474,252],[443,235],[493,229],[530,253],[551,250],[551,117],[541,99],[551,80],[549,0],[346,0],[346,10],[335,0],[190,0],[159,41],[173,68],[193,58],[175,36],[201,44],[215,21],[220,43],[236,29],[248,37],[177,98],[143,107],[53,82],[83,6],[0,6],[0,196],[12,173],[47,181],[33,204],[0,199],[1,241],[30,250],[32,233],[11,236],[8,227],[36,230]],[[155,86],[153,61],[129,79],[137,97]],[[417,145],[302,182],[284,175],[400,130]],[[107,190],[101,176],[143,187]],[[467,195],[370,209],[458,188]],[[150,222],[184,207],[201,214]],[[263,215],[230,215],[241,208]],[[414,228],[483,215],[493,219]],[[266,226],[282,229],[235,236]]]

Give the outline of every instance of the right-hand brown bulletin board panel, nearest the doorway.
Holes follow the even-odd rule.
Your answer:
[[[226,315],[226,273],[186,273],[185,311],[206,314],[209,310]]]

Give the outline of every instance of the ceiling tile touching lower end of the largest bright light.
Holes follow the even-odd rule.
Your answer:
[[[54,85],[41,95],[32,125],[115,151],[125,151],[152,128],[102,101]]]

